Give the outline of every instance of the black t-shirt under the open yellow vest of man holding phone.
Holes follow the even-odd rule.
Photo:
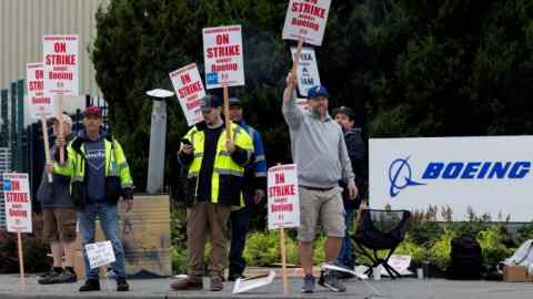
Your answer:
[[[214,157],[217,156],[217,144],[223,125],[209,128],[205,127],[205,140],[203,144],[203,158],[198,178],[198,200],[211,202],[211,178],[213,176]]]

